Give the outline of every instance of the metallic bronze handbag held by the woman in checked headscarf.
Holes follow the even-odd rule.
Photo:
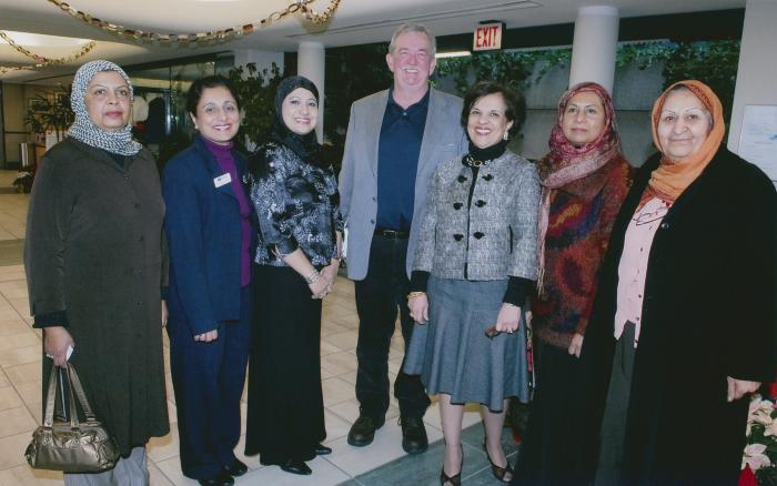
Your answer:
[[[63,385],[62,394],[67,393],[69,397],[69,419],[59,413],[54,419],[54,409],[59,408],[56,401],[58,382]],[[83,422],[79,422],[73,394],[83,409]],[[43,425],[32,433],[32,442],[27,446],[24,457],[33,468],[64,473],[99,473],[112,469],[119,459],[115,441],[94,417],[81,381],[70,363],[61,373],[56,365],[51,368]]]

